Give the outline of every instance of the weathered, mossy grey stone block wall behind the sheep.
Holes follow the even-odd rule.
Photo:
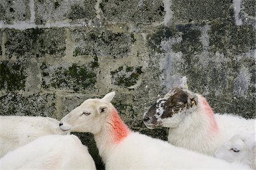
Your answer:
[[[129,127],[188,77],[213,110],[255,118],[254,0],[0,0],[0,114],[61,119],[115,91]],[[90,134],[77,133],[103,168]]]

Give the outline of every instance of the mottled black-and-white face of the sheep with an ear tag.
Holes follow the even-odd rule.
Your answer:
[[[196,94],[181,88],[174,88],[163,98],[159,98],[144,113],[143,122],[151,129],[157,126],[174,128],[179,126],[180,122],[195,109],[196,105]]]

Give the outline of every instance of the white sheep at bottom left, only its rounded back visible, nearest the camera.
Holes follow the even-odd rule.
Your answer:
[[[92,169],[94,160],[75,135],[46,135],[9,152],[0,169]]]

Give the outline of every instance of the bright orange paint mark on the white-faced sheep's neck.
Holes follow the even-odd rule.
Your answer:
[[[115,143],[119,143],[122,139],[124,139],[130,133],[130,129],[122,121],[122,119],[118,115],[118,112],[115,108],[113,108],[113,110],[110,111],[110,115],[112,116],[111,132],[113,135],[113,139]]]

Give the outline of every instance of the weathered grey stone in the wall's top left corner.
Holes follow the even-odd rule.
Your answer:
[[[29,20],[29,0],[0,1],[0,20],[5,23]]]

